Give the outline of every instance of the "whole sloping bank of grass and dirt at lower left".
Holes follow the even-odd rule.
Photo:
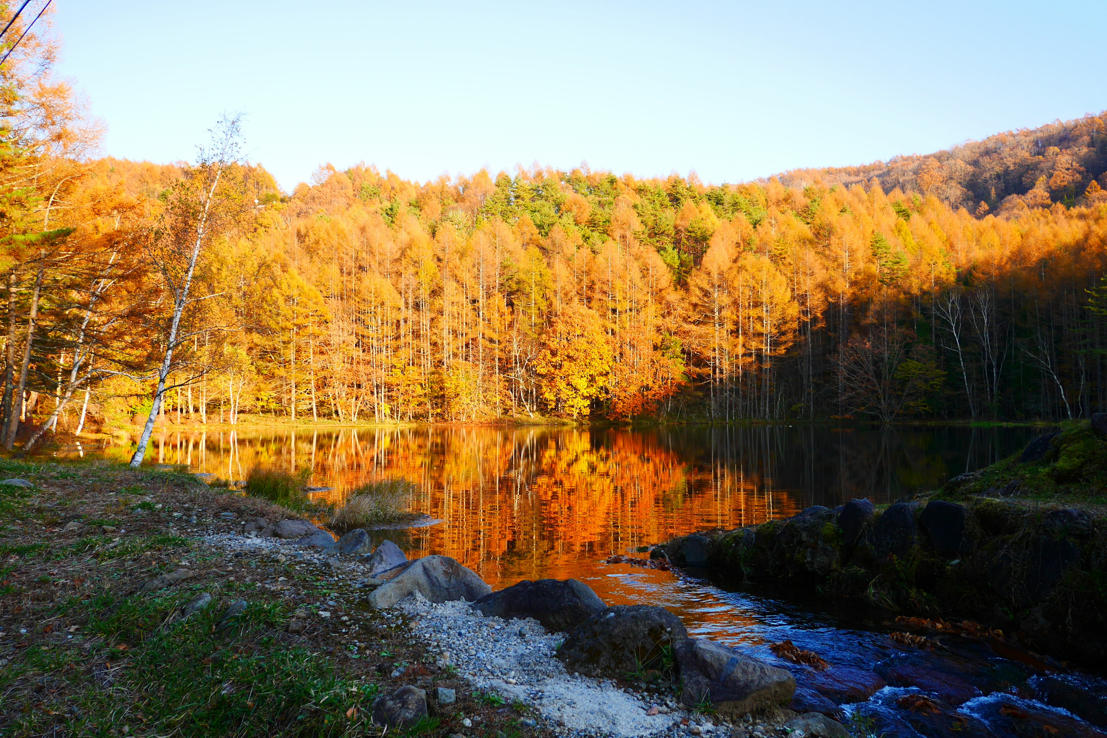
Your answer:
[[[473,735],[465,717],[477,735],[542,735],[434,666],[402,619],[359,609],[325,562],[205,542],[290,510],[187,474],[0,460],[10,477],[34,486],[0,486],[0,735],[382,735],[373,699],[416,676],[457,704],[389,735]],[[179,569],[192,576],[151,589]]]

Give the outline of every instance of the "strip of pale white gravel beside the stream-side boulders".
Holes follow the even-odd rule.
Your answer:
[[[536,707],[563,730],[638,738],[690,735],[696,726],[703,735],[727,735],[664,698],[651,701],[611,682],[568,674],[554,656],[563,636],[546,633],[535,620],[485,617],[465,602],[433,604],[417,594],[399,609],[411,617],[415,635],[441,654],[441,664],[454,665],[478,689]],[[646,715],[654,706],[664,711]],[[692,725],[682,728],[681,718]]]

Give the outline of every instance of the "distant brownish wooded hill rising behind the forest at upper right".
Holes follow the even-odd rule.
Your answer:
[[[876,179],[884,191],[898,187],[934,195],[951,207],[983,216],[1052,202],[1073,205],[1105,171],[1107,112],[1008,131],[933,154],[853,167],[793,169],[778,177],[795,187],[816,180],[849,186]]]

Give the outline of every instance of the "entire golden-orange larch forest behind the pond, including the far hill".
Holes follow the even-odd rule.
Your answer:
[[[286,194],[234,118],[190,164],[97,157],[51,43],[0,67],[9,449],[147,417],[1025,420],[1107,399],[1107,113],[737,185],[359,164]]]

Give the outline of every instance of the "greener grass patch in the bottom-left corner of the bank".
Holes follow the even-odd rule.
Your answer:
[[[227,603],[172,621],[194,595],[100,593],[60,603],[56,615],[87,619],[81,634],[91,653],[64,643],[32,646],[9,666],[0,675],[0,692],[38,674],[48,674],[54,687],[8,694],[14,716],[9,735],[42,735],[58,719],[69,735],[105,737],[124,725],[132,735],[185,737],[364,732],[376,687],[343,676],[321,654],[286,644],[287,607],[250,603],[232,627],[217,634]],[[110,683],[103,678],[105,662],[112,665]],[[350,708],[356,708],[352,718]]]

